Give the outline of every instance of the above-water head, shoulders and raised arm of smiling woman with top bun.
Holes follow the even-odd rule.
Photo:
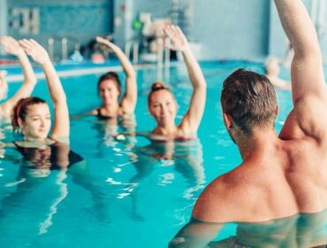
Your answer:
[[[171,44],[166,44],[166,47],[182,53],[194,91],[186,114],[179,126],[176,126],[178,105],[171,90],[161,82],[155,82],[152,85],[148,95],[148,109],[156,119],[156,128],[151,132],[150,138],[158,141],[193,139],[204,112],[206,81],[180,28],[170,25],[164,28],[164,32],[171,39]]]

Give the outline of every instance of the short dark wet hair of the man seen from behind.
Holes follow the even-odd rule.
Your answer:
[[[223,112],[246,134],[254,127],[273,127],[277,99],[273,85],[261,74],[238,69],[224,81],[221,103]]]

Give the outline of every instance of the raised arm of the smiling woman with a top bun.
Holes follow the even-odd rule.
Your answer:
[[[183,54],[188,76],[194,89],[188,111],[179,127],[182,128],[184,133],[196,133],[200,126],[206,103],[207,83],[180,28],[170,25],[164,28],[164,32],[171,39],[171,44],[165,44],[165,46],[171,50],[179,50]]]

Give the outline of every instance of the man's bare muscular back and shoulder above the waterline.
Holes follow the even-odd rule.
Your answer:
[[[261,222],[325,208],[326,143],[319,149],[314,141],[277,138],[211,182],[193,216],[208,222]]]

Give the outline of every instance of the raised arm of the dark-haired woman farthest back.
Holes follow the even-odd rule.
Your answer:
[[[114,43],[110,43],[108,40],[102,37],[96,37],[98,43],[103,43],[110,47],[110,49],[116,54],[121,66],[125,72],[125,94],[121,101],[121,106],[124,113],[133,113],[137,101],[137,84],[136,84],[136,74],[135,70],[125,56],[125,53]]]

